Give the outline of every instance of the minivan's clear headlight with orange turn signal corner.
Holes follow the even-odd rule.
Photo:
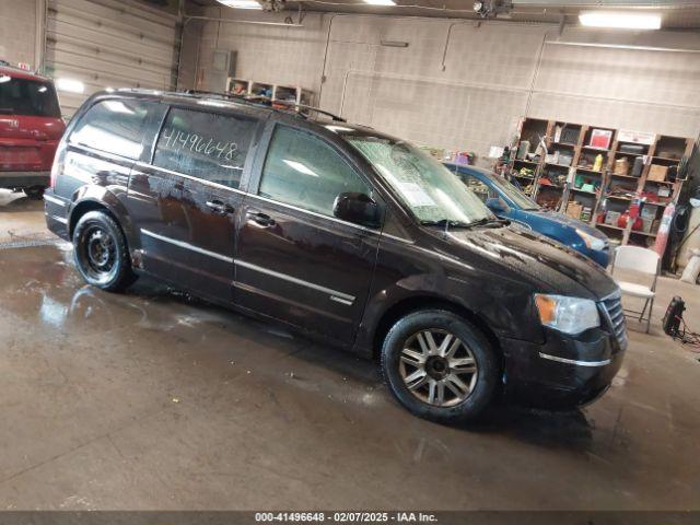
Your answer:
[[[600,325],[598,307],[588,299],[535,294],[535,304],[542,325],[575,336]]]

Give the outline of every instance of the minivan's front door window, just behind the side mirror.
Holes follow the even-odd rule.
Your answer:
[[[370,188],[319,137],[284,126],[275,130],[259,194],[280,202],[332,217],[338,195]]]

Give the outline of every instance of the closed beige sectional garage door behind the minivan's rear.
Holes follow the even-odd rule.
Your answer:
[[[46,72],[57,79],[63,115],[106,88],[172,89],[176,25],[176,16],[136,1],[49,0]]]

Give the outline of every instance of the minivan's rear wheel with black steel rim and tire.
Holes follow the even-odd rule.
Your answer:
[[[137,279],[126,237],[119,224],[103,211],[89,211],[79,219],[73,257],[85,282],[102,290],[120,292]]]

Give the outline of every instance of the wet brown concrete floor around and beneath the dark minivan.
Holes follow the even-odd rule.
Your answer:
[[[680,294],[700,328],[697,287],[661,280],[656,326],[630,332],[595,405],[447,428],[399,408],[372,363],[158,283],[84,285],[70,246],[37,226],[40,203],[13,202],[4,509],[700,509],[700,363],[657,326]]]

